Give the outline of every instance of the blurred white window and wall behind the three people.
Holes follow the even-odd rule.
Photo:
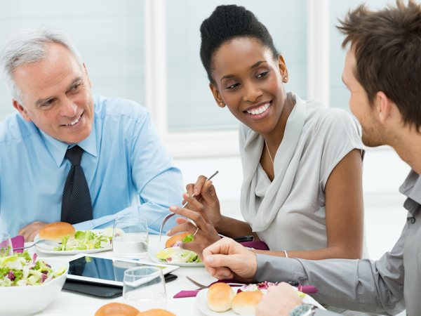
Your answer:
[[[368,0],[382,8],[386,0]],[[69,34],[93,93],[135,100],[152,113],[185,183],[216,170],[222,213],[241,218],[239,123],[215,103],[199,58],[199,26],[216,6],[240,4],[272,34],[288,67],[287,91],[349,111],[342,84],[345,51],[335,25],[361,0],[0,0],[0,48],[20,29],[48,24]],[[0,84],[0,121],[14,112]],[[398,189],[409,167],[389,147],[368,149],[363,167],[371,258],[390,249],[406,220]]]

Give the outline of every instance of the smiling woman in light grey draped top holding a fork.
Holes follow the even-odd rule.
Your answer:
[[[201,60],[219,107],[240,124],[241,213],[220,213],[215,187],[200,177],[187,185],[186,209],[171,210],[177,232],[196,232],[183,248],[201,251],[228,237],[253,234],[269,246],[256,251],[295,258],[361,258],[363,197],[359,129],[345,110],[286,92],[287,62],[255,15],[218,6],[201,25]],[[194,193],[196,197],[192,198]]]

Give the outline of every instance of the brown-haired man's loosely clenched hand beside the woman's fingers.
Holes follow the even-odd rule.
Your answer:
[[[218,279],[251,282],[258,269],[256,255],[231,238],[208,246],[203,250],[203,258],[206,270]]]

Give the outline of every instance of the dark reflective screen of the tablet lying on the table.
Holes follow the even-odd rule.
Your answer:
[[[81,257],[69,261],[69,275],[79,275],[82,277],[92,277],[93,279],[106,279],[109,281],[123,282],[124,271],[135,267],[165,268],[158,265],[147,265],[125,261],[113,261],[104,258]]]

